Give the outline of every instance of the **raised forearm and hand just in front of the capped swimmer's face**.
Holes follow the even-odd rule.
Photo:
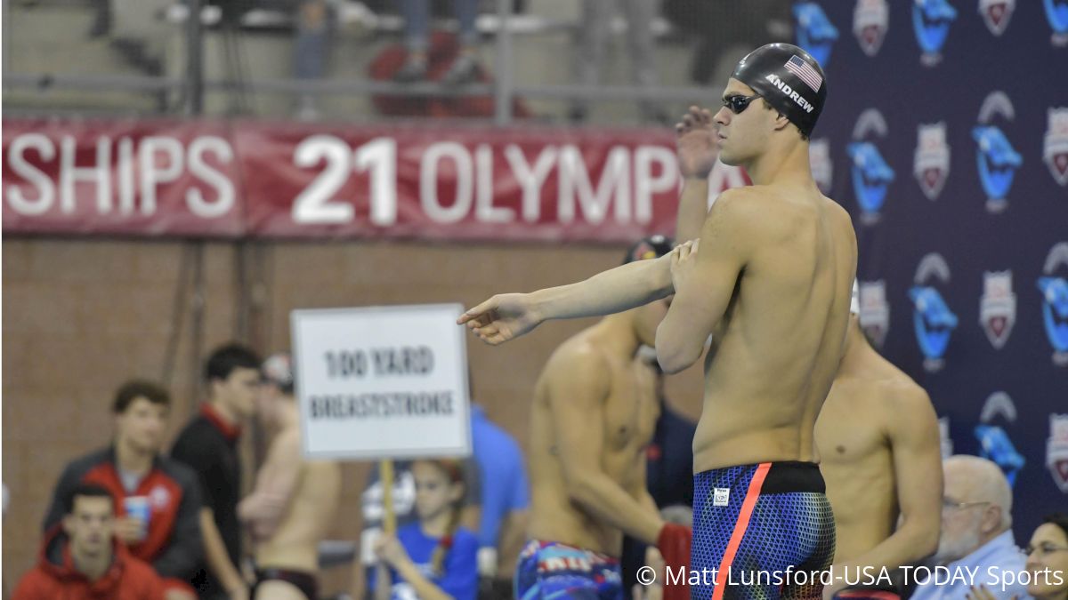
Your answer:
[[[675,149],[682,175],[682,193],[678,199],[675,239],[679,242],[697,239],[701,225],[708,215],[708,175],[716,165],[719,148],[712,113],[697,107],[675,125]]]

